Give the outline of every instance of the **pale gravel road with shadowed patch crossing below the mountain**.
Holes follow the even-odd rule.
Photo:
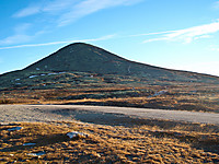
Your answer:
[[[219,114],[83,105],[0,105],[0,121],[57,121],[78,119],[96,122],[120,117],[168,119],[219,125]]]

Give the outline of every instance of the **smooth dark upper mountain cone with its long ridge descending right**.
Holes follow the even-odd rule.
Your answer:
[[[169,70],[129,61],[102,48],[83,43],[68,45],[24,70],[81,71],[104,74],[140,75],[150,79],[174,81],[207,82],[209,80],[219,80],[219,78],[212,75]]]

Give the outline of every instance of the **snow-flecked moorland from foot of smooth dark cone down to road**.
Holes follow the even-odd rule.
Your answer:
[[[89,104],[219,113],[217,83],[45,71],[1,82],[0,104]]]

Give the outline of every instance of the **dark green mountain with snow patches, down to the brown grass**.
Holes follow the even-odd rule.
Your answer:
[[[37,83],[43,84],[43,82],[48,80],[48,75],[45,74],[57,74],[60,72],[87,72],[90,73],[90,75],[92,75],[92,73],[99,75],[113,74],[114,77],[126,75],[129,77],[129,81],[134,81],[134,78],[138,78],[138,81],[143,79],[145,81],[151,82],[160,81],[160,83],[219,83],[219,77],[195,72],[176,71],[139,63],[127,60],[89,44],[74,43],[24,68],[23,70],[1,74],[0,87],[5,89],[24,85],[37,85]],[[34,84],[32,80],[33,78],[35,79]],[[59,78],[49,79],[49,81],[53,82],[57,79]],[[23,80],[22,83],[20,82],[21,80]],[[65,81],[65,83],[69,83],[68,80],[69,78],[66,78],[62,79],[61,82]]]

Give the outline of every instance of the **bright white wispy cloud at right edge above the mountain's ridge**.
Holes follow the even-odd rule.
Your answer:
[[[160,32],[160,34],[162,33],[166,34],[162,35],[161,37],[146,39],[143,43],[151,43],[158,40],[192,43],[193,40],[196,39],[209,38],[211,37],[211,34],[217,32],[219,32],[219,22],[204,24],[178,31]]]

